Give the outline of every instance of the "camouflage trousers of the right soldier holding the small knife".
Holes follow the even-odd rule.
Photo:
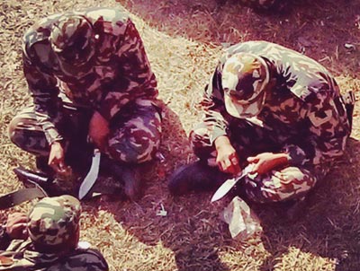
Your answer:
[[[268,136],[262,127],[257,127],[246,120],[238,122],[236,135],[229,131],[230,142],[236,149],[240,164],[245,165],[247,157],[259,153],[280,153],[283,149],[278,142]],[[206,124],[201,123],[190,133],[193,152],[209,166],[215,167],[216,150],[211,144],[210,133]],[[245,177],[241,180],[241,188],[247,197],[255,202],[269,203],[304,197],[315,186],[319,179],[329,172],[329,165],[288,166],[271,170],[254,179]]]

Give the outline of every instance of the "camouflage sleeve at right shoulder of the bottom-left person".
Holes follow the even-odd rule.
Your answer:
[[[95,249],[76,249],[73,255],[47,268],[48,271],[107,271],[109,267],[103,255]]]

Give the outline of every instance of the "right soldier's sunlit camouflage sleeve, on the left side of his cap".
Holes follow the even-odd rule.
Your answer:
[[[201,106],[205,112],[204,123],[208,127],[210,142],[213,144],[219,136],[227,135],[228,122],[223,114],[226,112],[221,88],[220,64],[211,75],[209,84],[205,87]]]

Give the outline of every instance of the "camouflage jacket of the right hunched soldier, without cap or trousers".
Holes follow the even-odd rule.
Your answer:
[[[266,135],[289,153],[292,165],[317,165],[340,156],[350,134],[347,113],[338,84],[329,72],[310,57],[266,41],[247,41],[225,50],[205,88],[202,108],[211,130],[211,144],[229,135],[236,126],[224,106],[221,70],[225,61],[239,52],[263,57],[275,82],[257,119],[248,119],[266,129]]]

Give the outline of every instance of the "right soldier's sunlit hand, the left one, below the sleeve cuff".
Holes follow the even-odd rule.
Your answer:
[[[227,136],[219,136],[215,140],[215,147],[217,151],[216,162],[219,169],[230,174],[238,174],[240,166],[238,164],[238,154],[234,147],[230,144]]]

